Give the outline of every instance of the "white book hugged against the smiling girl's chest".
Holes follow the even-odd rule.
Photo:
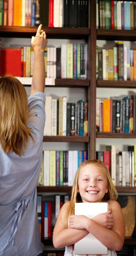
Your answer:
[[[93,218],[96,215],[108,212],[108,203],[75,203],[75,215],[84,215]],[[107,254],[104,246],[95,236],[89,233],[75,244],[75,254]]]

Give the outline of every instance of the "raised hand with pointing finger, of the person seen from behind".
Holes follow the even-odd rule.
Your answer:
[[[39,25],[36,36],[32,36],[31,45],[35,50],[44,50],[47,45],[46,33],[42,30],[42,25]]]

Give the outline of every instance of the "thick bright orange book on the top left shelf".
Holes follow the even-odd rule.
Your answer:
[[[14,0],[14,26],[22,26],[22,0]]]

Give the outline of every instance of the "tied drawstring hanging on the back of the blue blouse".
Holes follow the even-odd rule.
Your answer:
[[[12,245],[14,244],[14,238],[15,238],[15,234],[17,232],[17,228],[18,228],[18,225],[20,223],[20,220],[24,214],[24,211],[26,211],[28,207],[28,198],[20,198],[16,205],[15,205],[15,211],[16,211],[16,214],[15,214],[15,219],[13,221],[13,225],[11,227],[11,234],[7,240],[7,243],[9,243],[9,241],[12,239]]]

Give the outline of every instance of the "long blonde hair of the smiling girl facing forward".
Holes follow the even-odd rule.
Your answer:
[[[105,193],[104,198],[102,198],[101,201],[112,201],[112,200],[117,200],[117,198],[118,198],[117,189],[115,188],[115,186],[112,183],[110,173],[108,171],[107,166],[103,162],[101,162],[100,160],[97,160],[97,159],[86,160],[85,162],[83,162],[80,165],[80,167],[78,168],[78,171],[76,172],[75,178],[74,178],[73,187],[72,187],[72,191],[71,191],[71,201],[68,205],[66,215],[65,215],[65,223],[66,223],[67,227],[68,227],[69,216],[73,215],[75,212],[75,203],[82,202],[80,193],[78,193],[78,180],[79,180],[80,172],[82,171],[84,166],[86,166],[87,164],[94,165],[94,166],[101,168],[104,171],[104,174],[106,175],[108,193]]]

